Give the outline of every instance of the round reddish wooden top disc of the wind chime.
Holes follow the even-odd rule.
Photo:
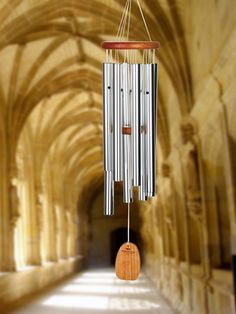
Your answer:
[[[158,41],[104,41],[102,48],[109,50],[153,50],[160,48],[160,43]]]

